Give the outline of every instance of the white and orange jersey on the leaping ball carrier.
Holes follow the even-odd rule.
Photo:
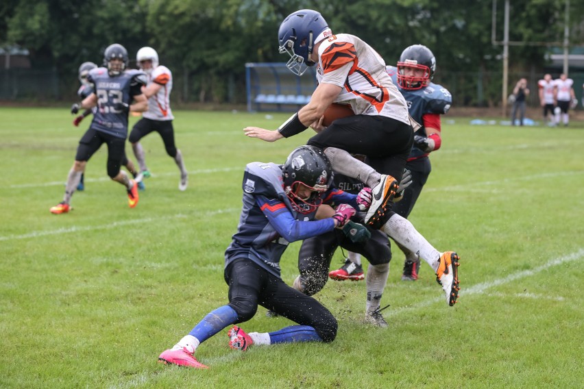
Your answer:
[[[343,88],[335,102],[350,103],[355,114],[387,116],[419,127],[387,75],[385,61],[363,40],[350,34],[332,35],[320,45],[318,58],[319,84]]]

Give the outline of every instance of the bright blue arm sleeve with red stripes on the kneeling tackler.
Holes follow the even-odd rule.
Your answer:
[[[256,195],[256,203],[278,234],[288,242],[312,238],[334,229],[332,218],[319,221],[298,221],[286,205],[278,199],[267,199]]]

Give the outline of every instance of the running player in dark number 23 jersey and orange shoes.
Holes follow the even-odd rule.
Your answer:
[[[104,52],[106,67],[95,68],[88,75],[88,81],[93,85],[95,92],[71,107],[73,114],[95,106],[97,110],[89,129],[77,147],[75,162],[67,177],[63,201],[52,207],[51,213],[64,214],[71,210],[69,205],[71,196],[79,184],[87,161],[104,143],[108,145],[108,175],[125,186],[130,208],[134,208],[138,203],[138,185],[120,170],[120,166],[127,138],[128,112],[147,110],[148,101],[141,91],[141,87],[146,83],[144,73],[125,70],[127,64],[127,51],[122,45],[115,43],[108,46]]]

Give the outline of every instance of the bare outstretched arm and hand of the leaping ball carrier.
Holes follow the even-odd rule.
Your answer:
[[[245,127],[243,133],[250,138],[259,138],[266,142],[276,142],[276,140],[284,138],[280,129],[291,121],[296,121],[296,123],[300,122],[298,124],[304,126],[304,129],[308,128],[308,125],[319,121],[326,108],[328,108],[332,101],[334,101],[334,98],[339,95],[339,92],[341,92],[340,86],[319,84],[311,97],[311,101],[284,122],[279,129],[271,130],[260,127]]]

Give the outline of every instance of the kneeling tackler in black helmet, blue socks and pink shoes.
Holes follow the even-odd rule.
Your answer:
[[[250,320],[258,305],[289,318],[291,325],[269,333],[229,329],[232,349],[251,344],[332,342],[337,320],[321,303],[280,278],[280,258],[289,242],[342,227],[355,213],[358,195],[332,188],[330,162],[314,147],[295,149],[282,165],[253,162],[243,175],[243,208],[225,252],[229,303],[207,314],[160,362],[206,368],[195,359],[199,344],[224,328]],[[328,203],[339,203],[333,210]],[[363,226],[361,226],[363,227]]]

